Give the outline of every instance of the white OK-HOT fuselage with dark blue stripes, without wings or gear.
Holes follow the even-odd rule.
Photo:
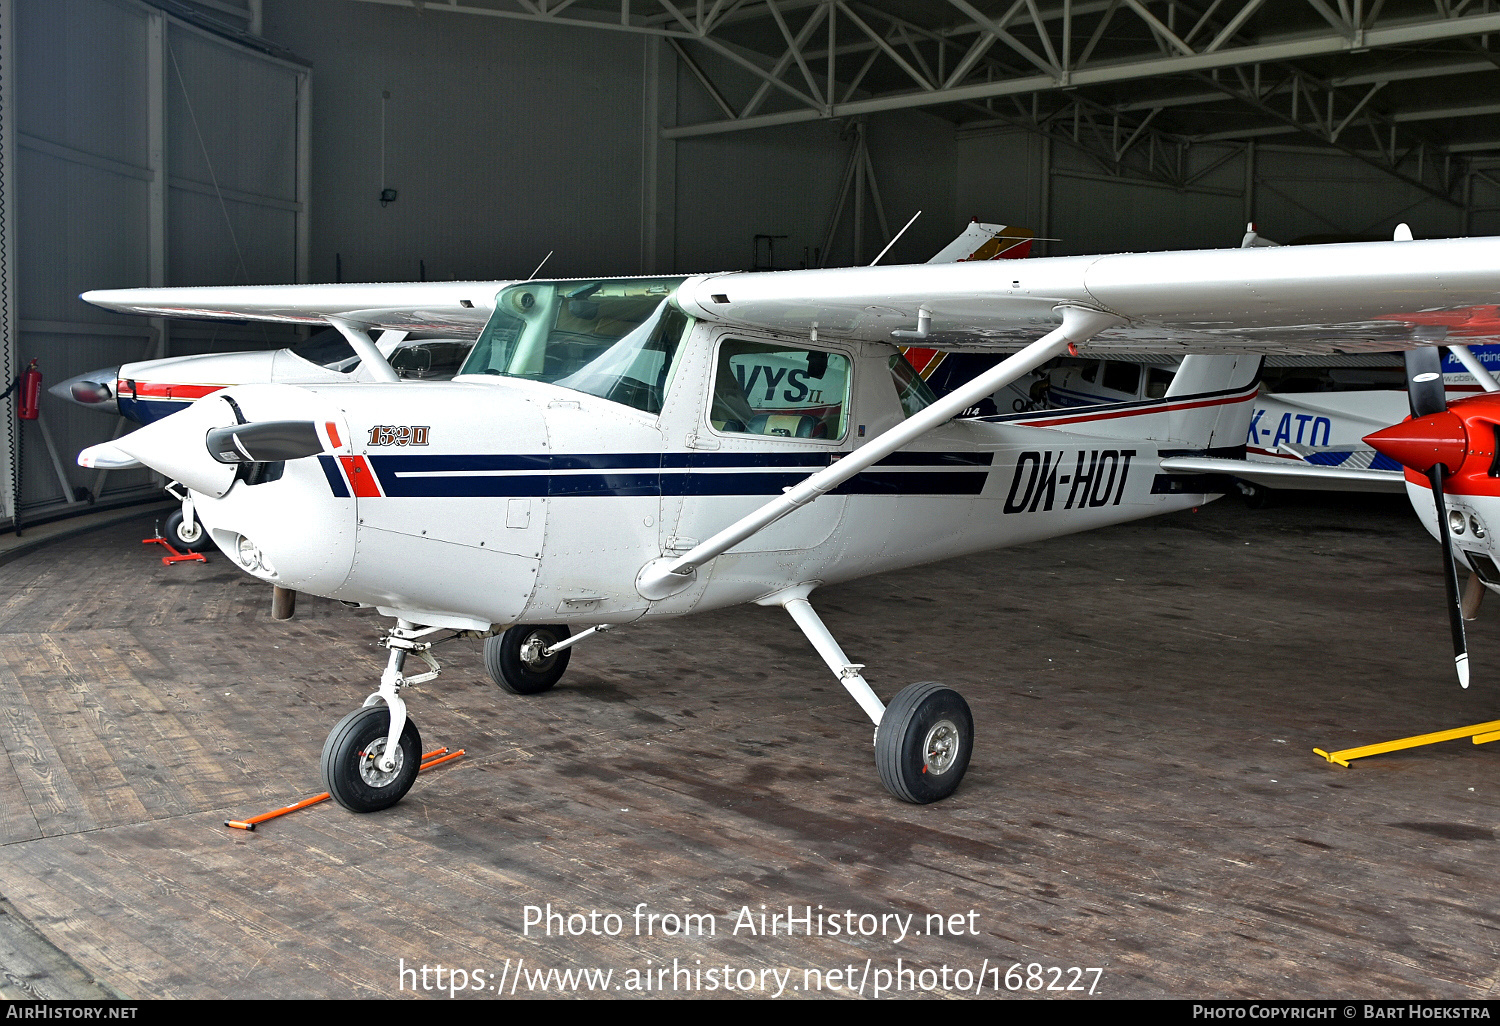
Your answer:
[[[274,480],[201,495],[198,512],[231,558],[242,537],[254,543],[266,564],[256,576],[414,622],[618,624],[1198,504],[1221,489],[1162,474],[1158,453],[1182,450],[1186,422],[1204,441],[1233,446],[1254,394],[1250,386],[1210,402],[1070,411],[1058,428],[950,422],[711,561],[690,588],[648,602],[636,588],[648,561],[692,549],[904,417],[894,346],[820,344],[849,360],[842,436],[720,430],[710,400],[716,352],[744,340],[808,345],[698,324],[658,414],[472,374],[444,384],[232,388],[250,422],[332,423],[338,446],[288,460]],[[219,418],[234,423],[228,404],[204,402],[219,402]]]

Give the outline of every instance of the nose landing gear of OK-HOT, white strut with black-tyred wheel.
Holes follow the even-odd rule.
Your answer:
[[[382,639],[390,660],[380,680],[380,690],[364,705],[339,720],[322,746],[322,783],[333,800],[351,812],[378,812],[400,801],[422,762],[422,735],[406,716],[400,690],[434,680],[441,666],[422,640],[440,627],[417,627],[398,620]],[[416,654],[430,669],[405,676],[406,656]]]

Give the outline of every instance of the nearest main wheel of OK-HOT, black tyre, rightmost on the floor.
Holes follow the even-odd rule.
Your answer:
[[[926,806],[958,788],[974,752],[974,717],[963,696],[936,681],[902,690],[874,730],[874,768],[885,789]]]

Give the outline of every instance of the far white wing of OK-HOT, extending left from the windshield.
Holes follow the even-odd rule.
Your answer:
[[[94,306],[152,316],[201,316],[364,330],[444,332],[478,338],[495,294],[514,282],[408,282],[393,285],[228,285],[222,288],[118,288],[84,292]]]

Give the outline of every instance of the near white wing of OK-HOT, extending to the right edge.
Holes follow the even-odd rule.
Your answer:
[[[1500,238],[705,274],[684,310],[746,328],[942,350],[1020,348],[1086,308],[1090,352],[1390,351],[1500,342]]]

